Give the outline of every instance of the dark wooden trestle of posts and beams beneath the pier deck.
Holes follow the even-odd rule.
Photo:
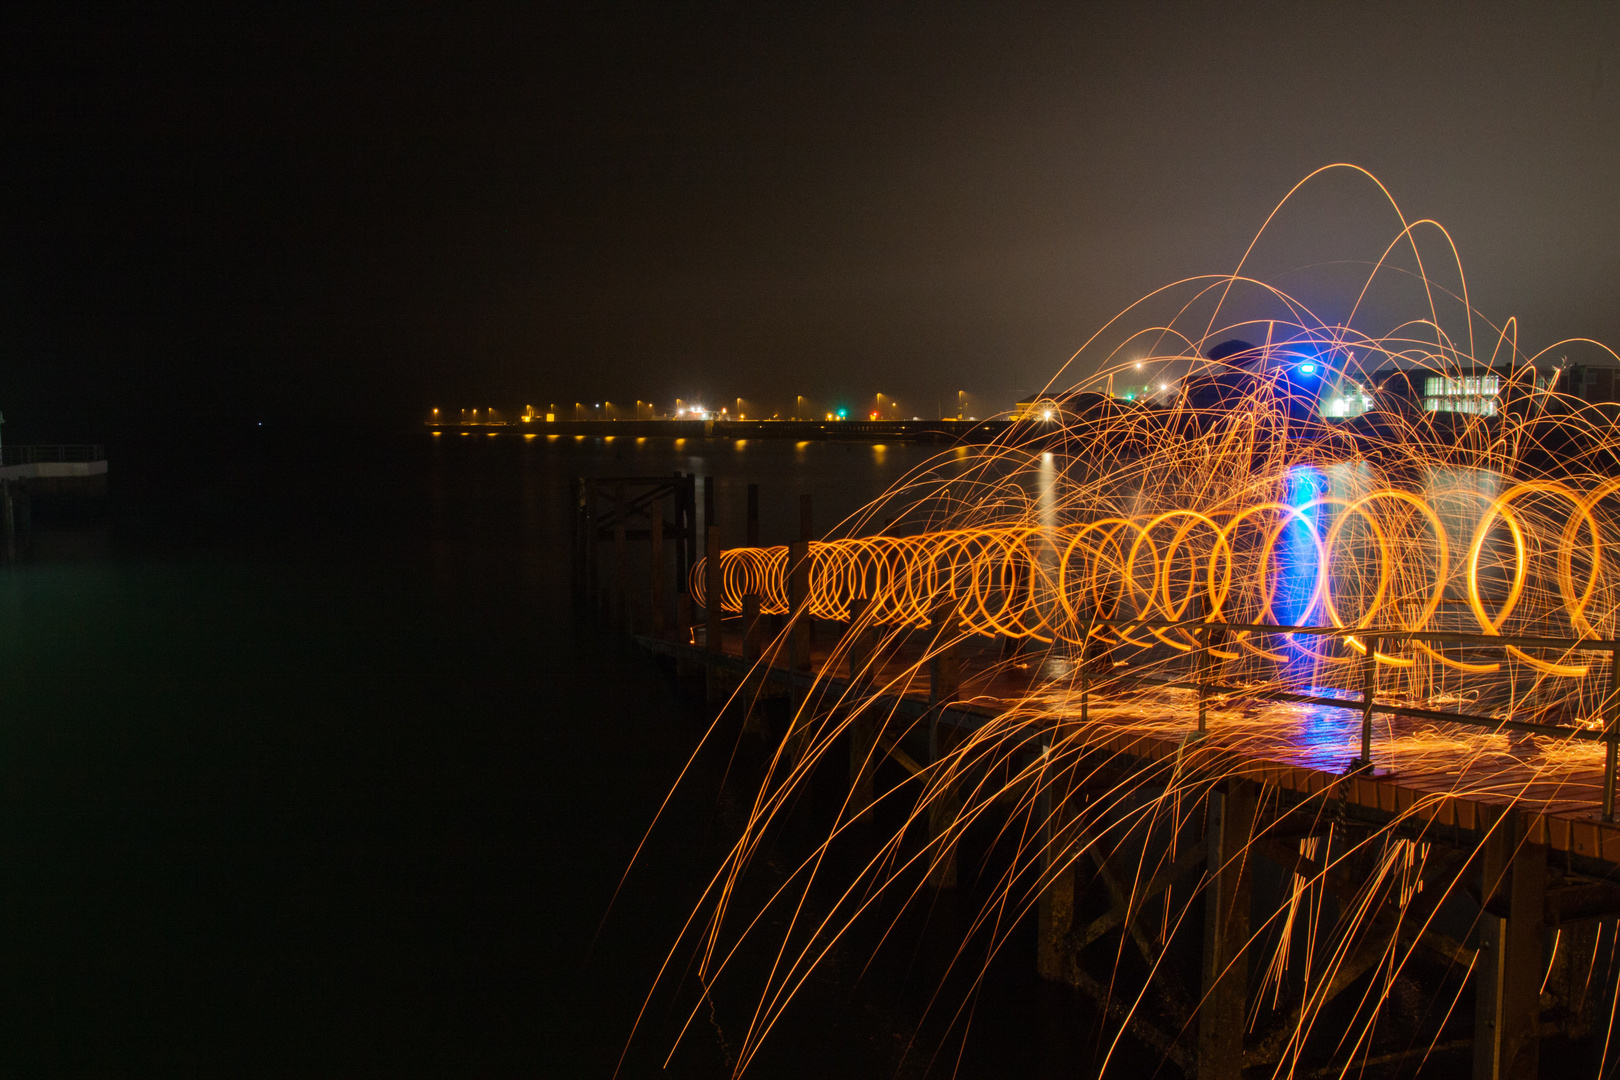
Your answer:
[[[672,484],[666,494],[682,499],[680,487]],[[690,507],[690,495],[685,499]],[[619,505],[625,505],[622,497]],[[808,504],[804,518],[808,536]],[[718,562],[713,512],[705,525],[710,559]],[[599,529],[593,536],[617,539]],[[805,552],[805,539],[792,546],[795,609],[808,591],[800,580],[807,573]],[[632,620],[632,630],[638,630],[637,641],[646,649],[688,669],[701,665],[711,699],[731,696],[740,680],[750,678],[748,693],[737,699],[776,693],[799,706],[815,691],[829,703],[870,701],[847,737],[850,808],[857,814],[867,813],[873,800],[873,746],[894,766],[920,772],[940,761],[953,740],[1027,701],[1040,682],[1042,657],[1029,657],[1029,670],[1019,670],[1000,662],[1000,646],[988,643],[982,653],[935,656],[904,683],[904,691],[873,699],[872,688],[883,685],[885,670],[915,667],[920,654],[909,664],[901,656],[872,664],[878,649],[872,628],[829,622],[812,628],[797,614],[786,620],[761,617],[757,604],[745,604],[744,619],[710,612],[698,620],[682,597],[676,619],[661,617],[667,597],[659,578],[672,576],[672,591],[684,589],[685,581],[684,573],[672,573],[671,562],[654,549],[654,614]],[[595,565],[595,555],[582,557],[582,563]],[[859,606],[854,615],[852,625],[859,627]],[[779,633],[789,640],[778,643]],[[774,662],[761,664],[761,656]],[[862,680],[854,695],[847,693],[852,678]],[[816,704],[808,701],[795,714],[810,714]],[[1199,719],[1202,706],[1200,699]],[[1362,706],[1341,701],[1340,708]],[[1409,1075],[1427,1057],[1430,1070],[1456,1075],[1471,1049],[1476,1080],[1523,1078],[1539,1074],[1539,1044],[1547,1036],[1604,1043],[1620,975],[1612,963],[1620,918],[1620,827],[1601,813],[1601,766],[1576,769],[1557,787],[1537,785],[1529,774],[1513,776],[1511,767],[1469,776],[1469,784],[1460,785],[1455,772],[1434,766],[1403,771],[1396,763],[1393,774],[1380,774],[1371,763],[1330,763],[1319,746],[1262,759],[1225,738],[1220,719],[1199,733],[1194,711],[1181,706],[1179,714],[1186,717],[1179,733],[1166,730],[1173,727],[1166,724],[1144,730],[1097,695],[1081,716],[1048,721],[1048,743],[1077,735],[1090,764],[1071,771],[1072,785],[1042,797],[1050,811],[1047,873],[1035,915],[1035,963],[1043,978],[1090,996],[1115,1025],[1200,1078],[1340,1075],[1349,1059],[1328,1064],[1306,1056],[1296,1069],[1286,1064],[1294,1061],[1301,1015],[1325,1015],[1335,999],[1356,997],[1354,988],[1366,988],[1380,965],[1409,949],[1419,957],[1409,976],[1452,988],[1430,996],[1442,1012],[1447,1002],[1466,1001],[1466,994],[1460,997],[1466,981],[1473,1015],[1460,1006],[1427,1018],[1426,1033],[1403,1046],[1362,1044],[1349,1074],[1362,1065],[1405,1065]],[[1409,722],[1421,721],[1416,716]],[[1392,732],[1400,730],[1400,717],[1390,724]],[[786,737],[802,738],[804,721]],[[1186,790],[1189,774],[1207,777],[1207,784],[1199,805],[1183,808],[1176,836],[1153,836],[1123,819],[1118,798],[1097,798],[1103,790],[1118,793],[1136,785],[1149,800],[1165,790],[1170,776],[1178,777],[1178,790]],[[930,814],[933,837],[953,816],[949,800],[936,801]],[[1364,886],[1374,876],[1374,845],[1364,840],[1380,834],[1424,845],[1426,858],[1369,900]],[[1100,836],[1110,842],[1085,842]],[[1064,850],[1084,855],[1063,860]],[[1128,858],[1111,855],[1119,852]],[[1333,904],[1367,905],[1364,933],[1346,942],[1348,954],[1330,968],[1327,984],[1302,991],[1312,996],[1309,1006],[1302,993],[1294,1001],[1286,994],[1273,1001],[1268,991],[1267,1001],[1259,1001],[1260,972],[1254,949],[1246,947],[1290,902],[1296,874],[1319,881]],[[932,863],[935,887],[953,887],[956,878],[954,853]],[[1171,939],[1153,925],[1155,912],[1170,910],[1171,892],[1202,897],[1202,925],[1191,936],[1183,926]],[[1123,970],[1116,968],[1123,955],[1134,957],[1131,970],[1142,972],[1140,997],[1140,986],[1123,988],[1111,975]],[[1327,1041],[1332,1046],[1336,1035]],[[1614,1043],[1620,1049],[1620,1040]]]

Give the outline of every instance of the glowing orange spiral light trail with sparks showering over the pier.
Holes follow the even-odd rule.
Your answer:
[[[810,544],[797,614],[787,547],[726,551],[718,575],[706,562],[692,568],[693,601],[714,589],[726,614],[757,596],[766,615],[847,623],[677,946],[695,947],[706,999],[744,942],[773,942],[739,1074],[816,965],[872,916],[875,897],[923,895],[970,827],[991,827],[1016,853],[993,871],[970,934],[978,944],[964,944],[959,968],[988,967],[1061,874],[1103,860],[1136,866],[1118,886],[1129,894],[1113,925],[1124,933],[1118,955],[1149,972],[1170,963],[1204,902],[1197,878],[1171,873],[1199,808],[1265,763],[1330,759],[1343,771],[1353,717],[1309,701],[1358,690],[1369,670],[1380,708],[1430,717],[1385,724],[1379,764],[1443,776],[1448,787],[1369,834],[1317,803],[1324,824],[1298,840],[1285,902],[1244,946],[1262,973],[1246,1023],[1272,1075],[1322,1061],[1348,1075],[1380,1025],[1395,1023],[1390,994],[1413,968],[1414,934],[1432,929],[1435,905],[1461,895],[1476,866],[1430,844],[1424,814],[1435,800],[1596,810],[1604,745],[1592,737],[1617,706],[1620,429],[1614,408],[1573,393],[1568,356],[1609,363],[1614,353],[1592,342],[1523,353],[1513,321],[1494,325],[1469,306],[1445,232],[1395,215],[1400,227],[1341,322],[1249,275],[1265,228],[1233,274],[1132,304],[1071,361],[1095,376],[1068,390],[1055,381],[998,444],[938,455]],[[1447,259],[1426,262],[1419,236],[1439,240]],[[1153,317],[1155,306],[1166,314]],[[1359,329],[1375,316],[1383,329]],[[1119,329],[1131,324],[1142,329]],[[1356,408],[1340,408],[1349,397]],[[852,651],[862,630],[878,640],[870,654]],[[990,719],[944,738],[902,717],[893,703],[964,649],[978,657],[978,683],[962,693]],[[1013,669],[1027,672],[1024,688],[993,690]],[[1176,687],[1189,680],[1223,688],[1209,701],[1204,742],[1187,740],[1194,703]],[[752,687],[744,680],[739,696]],[[1204,711],[1200,696],[1200,727]],[[1534,730],[1432,719],[1442,711]],[[860,724],[878,725],[873,759],[923,735],[938,753],[880,792],[876,811],[852,797],[763,907],[739,907],[739,881],[773,826]],[[1181,748],[1153,758],[1142,750],[1153,740]],[[839,878],[826,855],[872,813],[888,813],[886,839]],[[930,839],[917,850],[922,823]],[[1257,826],[1251,844],[1296,840],[1270,840]],[[828,887],[834,900],[812,902]],[[1615,934],[1612,921],[1604,928]],[[1455,957],[1464,954],[1474,955]],[[1455,957],[1427,1014],[1456,1009],[1474,960]],[[1153,994],[1176,996],[1132,983],[1118,963],[1103,994],[1115,1040],[1168,1007]],[[1614,997],[1620,968],[1589,963],[1588,980],[1607,980]],[[1092,978],[1066,970],[1079,986]],[[969,978],[959,1009],[936,1002],[959,1028],[980,978]],[[1349,984],[1366,989],[1340,996]],[[1332,1025],[1330,1001],[1348,1009]],[[1166,1038],[1160,1049],[1174,1057],[1179,1036]]]

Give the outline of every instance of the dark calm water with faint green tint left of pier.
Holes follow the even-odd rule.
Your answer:
[[[737,541],[757,481],[771,542],[930,453],[688,445],[112,447],[107,520],[0,572],[0,1074],[611,1075],[737,793],[700,767],[603,923],[705,716],[572,609],[567,478],[714,473]],[[901,954],[760,1075],[915,1075]],[[1029,967],[962,1075],[1050,1061]],[[661,1075],[723,1075],[750,1004]]]

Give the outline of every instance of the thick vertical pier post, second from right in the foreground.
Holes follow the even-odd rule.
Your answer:
[[[1254,837],[1257,792],[1231,777],[1210,792],[1204,850],[1204,996],[1199,1001],[1199,1080],[1243,1078],[1243,1030],[1249,991],[1247,845]]]

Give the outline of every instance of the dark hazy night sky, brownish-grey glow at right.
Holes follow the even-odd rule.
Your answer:
[[[1614,5],[0,18],[8,434],[1011,400],[1335,160],[1528,345],[1620,343]],[[1375,209],[1324,185],[1267,269],[1375,256]]]

